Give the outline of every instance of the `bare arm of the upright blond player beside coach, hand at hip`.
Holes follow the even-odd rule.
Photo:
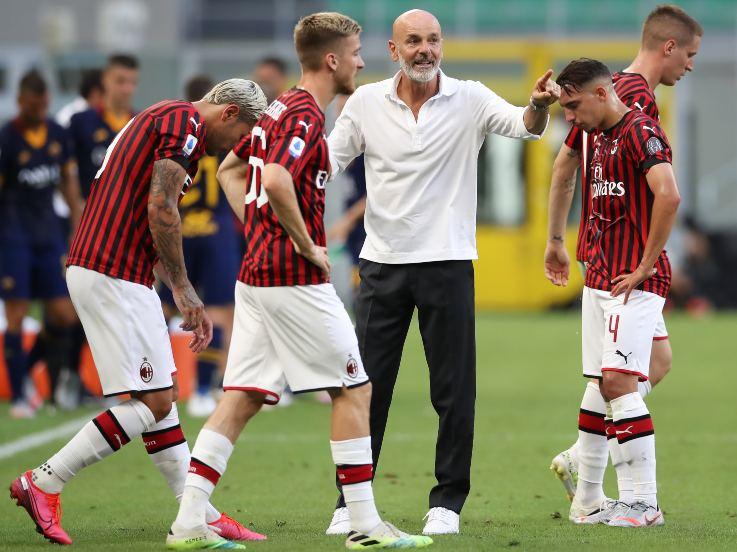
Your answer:
[[[261,185],[269,197],[269,204],[294,244],[297,253],[320,268],[326,277],[330,276],[330,261],[326,247],[315,245],[312,241],[305,219],[299,210],[294,182],[289,171],[277,163],[269,163],[261,173]]]

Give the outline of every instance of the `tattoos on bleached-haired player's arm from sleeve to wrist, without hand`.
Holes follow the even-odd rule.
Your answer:
[[[172,286],[184,283],[187,278],[178,205],[186,177],[187,172],[175,161],[156,161],[148,195],[148,225]]]

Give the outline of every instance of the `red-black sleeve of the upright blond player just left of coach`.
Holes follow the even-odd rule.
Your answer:
[[[287,113],[268,145],[264,164],[281,165],[292,178],[305,166],[322,136],[322,122],[309,111]]]

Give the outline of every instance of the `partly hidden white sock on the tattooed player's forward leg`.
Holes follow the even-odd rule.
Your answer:
[[[189,472],[189,446],[179,424],[177,405],[171,405],[171,411],[149,431],[141,435],[149,458],[166,479],[167,485],[174,493],[177,502],[182,501],[184,480]],[[220,512],[212,504],[207,504],[205,520],[212,523],[220,518]]]

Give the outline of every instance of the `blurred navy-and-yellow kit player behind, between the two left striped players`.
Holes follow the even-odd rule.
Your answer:
[[[185,96],[188,101],[199,100],[212,85],[209,77],[195,76],[187,82]],[[196,418],[207,417],[215,410],[212,383],[218,369],[224,367],[230,341],[240,259],[235,217],[217,181],[219,162],[214,155],[203,156],[197,176],[179,202],[188,277],[213,325],[210,345],[197,355],[197,385],[187,403],[187,412]],[[159,295],[166,310],[173,312],[176,307],[171,290],[163,286]]]

